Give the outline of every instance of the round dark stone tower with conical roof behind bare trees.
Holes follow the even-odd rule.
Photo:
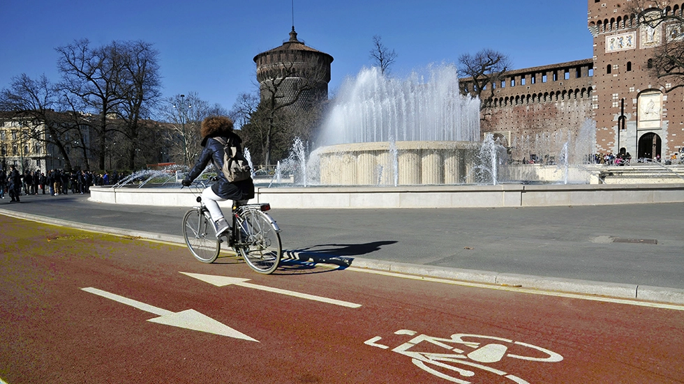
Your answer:
[[[290,39],[283,45],[254,56],[262,102],[292,103],[288,108],[301,112],[327,100],[332,61],[329,54],[297,40],[292,26]]]

